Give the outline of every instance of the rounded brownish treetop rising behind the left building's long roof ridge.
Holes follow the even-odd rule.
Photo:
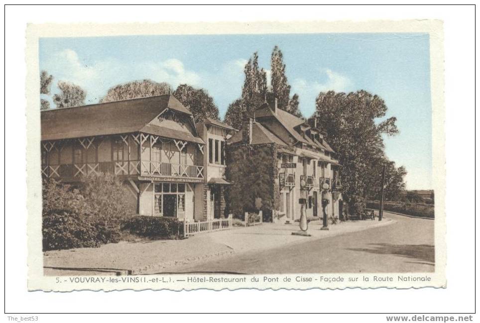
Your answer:
[[[171,92],[172,87],[165,82],[158,83],[152,80],[131,81],[110,88],[107,95],[100,99],[100,103],[160,96]]]

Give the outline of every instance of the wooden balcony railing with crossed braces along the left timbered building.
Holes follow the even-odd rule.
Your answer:
[[[47,178],[79,177],[82,175],[100,173],[150,177],[204,178],[203,166],[144,160],[141,162],[139,160],[130,160],[42,166],[42,176]]]

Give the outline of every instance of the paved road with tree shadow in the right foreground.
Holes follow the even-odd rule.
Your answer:
[[[433,272],[434,221],[385,213],[391,225],[174,267],[176,273]],[[245,241],[248,243],[248,241]]]

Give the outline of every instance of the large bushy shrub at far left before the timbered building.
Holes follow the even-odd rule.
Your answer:
[[[43,250],[118,242],[127,210],[121,190],[121,182],[112,175],[87,176],[76,186],[45,180]]]

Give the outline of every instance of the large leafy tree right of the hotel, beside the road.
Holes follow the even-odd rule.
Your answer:
[[[380,97],[363,90],[350,94],[329,91],[316,99],[317,124],[326,132],[326,141],[338,152],[343,165],[340,174],[347,202],[353,196],[378,196],[384,164],[388,194],[399,194],[405,187],[405,169],[396,168],[383,152],[382,135],[398,133],[396,118],[375,122],[385,116],[386,110]]]

